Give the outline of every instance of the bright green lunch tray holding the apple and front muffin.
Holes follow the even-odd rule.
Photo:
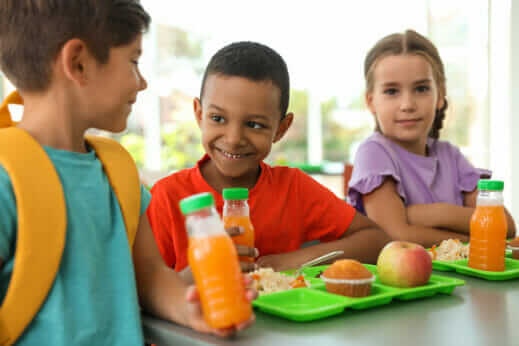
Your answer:
[[[376,266],[365,264],[376,275]],[[340,314],[344,309],[363,310],[380,305],[390,304],[393,300],[413,300],[436,294],[451,294],[456,286],[465,281],[431,275],[429,282],[420,287],[398,288],[381,284],[378,278],[371,287],[371,294],[362,298],[344,297],[326,291],[323,280],[316,276],[328,266],[317,266],[303,269],[310,287],[294,288],[287,291],[264,294],[252,302],[261,311],[277,315],[297,322],[318,320]],[[285,272],[290,275],[293,271]]]

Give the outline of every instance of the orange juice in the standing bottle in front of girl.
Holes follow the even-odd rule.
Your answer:
[[[476,207],[470,220],[469,267],[505,270],[507,227],[503,206]]]

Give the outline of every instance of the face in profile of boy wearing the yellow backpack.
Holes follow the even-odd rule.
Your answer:
[[[90,127],[112,132],[126,128],[137,94],[147,86],[138,66],[141,39],[139,35],[128,45],[110,48],[108,62],[92,67],[86,93]]]

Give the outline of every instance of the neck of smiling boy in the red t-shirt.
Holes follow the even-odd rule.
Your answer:
[[[207,184],[221,194],[223,189],[231,187],[244,187],[251,190],[258,182],[261,168],[258,165],[256,171],[240,177],[228,177],[221,174],[214,162],[209,160],[200,167],[200,172]]]

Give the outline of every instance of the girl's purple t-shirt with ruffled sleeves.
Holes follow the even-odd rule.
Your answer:
[[[481,175],[459,149],[444,141],[429,138],[428,156],[413,154],[375,132],[357,150],[348,197],[357,210],[365,213],[362,195],[392,177],[406,206],[450,203],[463,205],[463,193],[477,187]]]

